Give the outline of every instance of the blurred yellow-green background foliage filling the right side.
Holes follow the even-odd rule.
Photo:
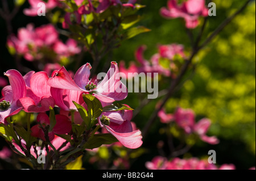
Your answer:
[[[243,1],[237,0],[213,2],[217,16],[209,17],[203,40],[243,5]],[[157,53],[158,44],[183,44],[189,52],[191,47],[183,20],[167,20],[159,15],[159,9],[166,6],[166,1],[142,1],[142,4],[147,6],[142,10],[142,24],[152,31],[122,44],[115,50],[114,60],[125,60],[128,65],[129,61],[135,60],[133,50],[139,45],[147,46],[147,60]],[[196,36],[199,30],[193,30],[193,35]],[[172,113],[180,106],[195,111],[197,120],[208,117],[213,123],[208,134],[216,135],[221,142],[218,146],[199,143],[191,149],[191,154],[203,157],[209,149],[215,149],[221,155],[217,159],[219,163],[233,162],[238,169],[255,165],[255,1],[201,50],[193,63],[196,70],[187,75],[192,78],[168,100],[167,112]],[[163,80],[160,87],[167,87],[169,82]],[[135,117],[133,121],[138,127],[143,127],[149,119],[148,112],[154,110],[156,102],[147,104]],[[130,106],[136,109],[139,103],[131,99]],[[157,139],[152,136],[161,126],[159,123],[152,126],[151,137],[146,138],[144,145],[157,144]]]

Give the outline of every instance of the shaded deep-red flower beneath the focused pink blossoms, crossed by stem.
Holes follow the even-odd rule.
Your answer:
[[[55,117],[56,125],[53,127],[52,131],[48,132],[49,141],[53,140],[55,134],[66,134],[72,129],[71,120],[69,120],[67,116],[56,115]],[[50,125],[50,120],[46,113],[39,113],[38,117],[36,117],[36,121],[44,128]],[[44,131],[39,125],[34,125],[34,127],[31,128],[31,136],[38,137],[44,141],[46,140]]]

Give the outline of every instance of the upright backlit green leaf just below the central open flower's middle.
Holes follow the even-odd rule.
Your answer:
[[[84,102],[87,104],[89,115],[92,116],[92,121],[94,123],[94,120],[102,113],[103,108],[101,102],[90,94],[84,94],[82,95],[82,98],[84,98]]]

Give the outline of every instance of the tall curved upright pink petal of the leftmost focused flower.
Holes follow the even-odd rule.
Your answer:
[[[8,70],[5,75],[9,78],[11,89],[13,90],[13,100],[11,103],[16,104],[17,100],[26,96],[26,83],[17,70]]]

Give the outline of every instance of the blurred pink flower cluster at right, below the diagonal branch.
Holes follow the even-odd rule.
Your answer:
[[[190,109],[177,108],[174,114],[166,113],[163,109],[158,112],[160,121],[168,124],[175,121],[178,127],[182,128],[186,134],[197,134],[200,139],[208,144],[218,144],[219,140],[215,136],[207,136],[211,121],[207,118],[195,122],[195,113]]]

